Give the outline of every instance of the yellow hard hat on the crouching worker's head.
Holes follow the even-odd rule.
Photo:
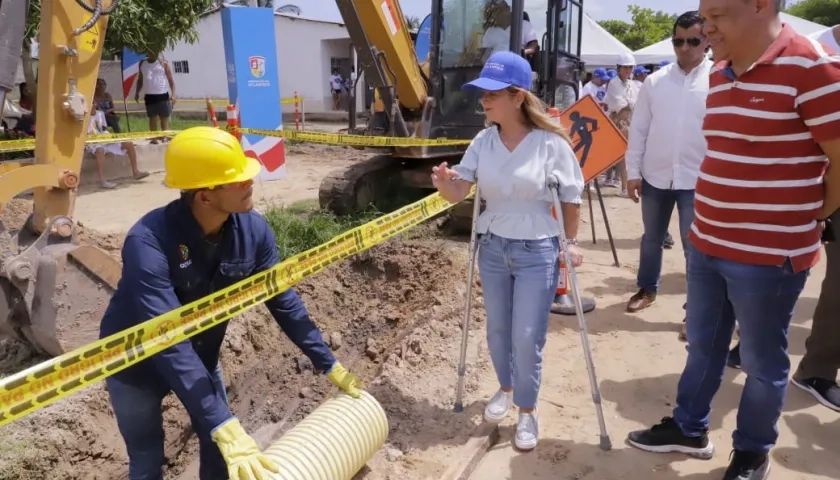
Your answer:
[[[239,140],[215,127],[190,127],[177,133],[164,157],[169,188],[195,190],[256,177],[262,166],[246,157]]]

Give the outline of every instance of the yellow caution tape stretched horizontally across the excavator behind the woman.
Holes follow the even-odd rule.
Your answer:
[[[258,130],[255,128],[237,128],[236,130],[246,135],[263,135],[266,137],[280,137],[308,143],[354,147],[442,147],[449,145],[469,145],[472,141],[448,138],[374,137],[346,133],[302,132],[299,130]]]

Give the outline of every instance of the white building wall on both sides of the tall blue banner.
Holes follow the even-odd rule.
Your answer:
[[[175,73],[173,69],[177,96],[227,98],[221,13],[202,18],[196,30],[199,36],[196,43],[181,43],[163,54],[170,65],[176,61],[189,62],[188,74]],[[332,110],[328,85],[330,58],[350,55],[350,39],[344,25],[276,15],[275,39],[281,97],[292,97],[297,91],[305,99],[306,111]],[[362,87],[359,90],[364,92]],[[359,110],[364,108],[364,97],[357,95],[357,106]],[[284,105],[283,110],[292,112],[294,105]]]

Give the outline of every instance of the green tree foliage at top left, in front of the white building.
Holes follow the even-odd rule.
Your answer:
[[[108,18],[105,51],[119,53],[128,47],[136,52],[161,52],[182,41],[194,43],[198,40],[195,25],[215,4],[215,0],[122,0]],[[30,0],[27,37],[35,36],[40,20],[41,2]]]

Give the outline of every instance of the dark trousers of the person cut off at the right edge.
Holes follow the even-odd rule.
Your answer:
[[[840,227],[840,215],[834,215],[834,225]],[[823,279],[811,335],[805,341],[805,356],[799,363],[796,378],[837,378],[840,370],[840,243],[825,245],[825,278]]]

